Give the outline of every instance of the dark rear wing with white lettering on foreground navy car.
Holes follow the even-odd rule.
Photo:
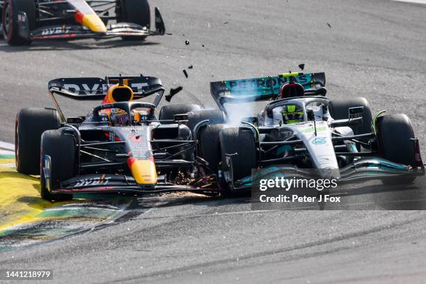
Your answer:
[[[63,116],[63,112],[54,97],[55,94],[70,97],[73,100],[103,100],[107,95],[108,88],[116,84],[124,84],[132,88],[135,100],[155,94],[156,97],[153,102],[155,107],[158,106],[164,94],[164,87],[160,79],[142,75],[136,77],[105,77],[105,79],[97,77],[59,78],[49,81],[47,88],[61,118],[65,120],[65,116]]]

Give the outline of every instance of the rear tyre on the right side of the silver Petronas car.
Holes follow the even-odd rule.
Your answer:
[[[365,97],[354,97],[353,99],[345,100],[331,100],[329,104],[329,111],[331,117],[334,119],[346,119],[349,116],[350,107],[364,107],[363,111],[363,124],[358,126],[351,126],[354,134],[365,134],[371,132],[372,114],[368,101]],[[368,139],[359,139],[363,142],[368,142]]]

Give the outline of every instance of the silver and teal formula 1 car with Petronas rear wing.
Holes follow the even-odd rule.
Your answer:
[[[419,141],[405,114],[372,116],[363,97],[329,100],[324,73],[216,81],[212,96],[225,104],[271,100],[258,116],[219,135],[220,176],[232,192],[253,182],[252,169],[274,165],[317,169],[319,178],[353,182],[412,182],[425,174]],[[209,126],[214,127],[214,126]],[[207,127],[207,128],[209,128]]]

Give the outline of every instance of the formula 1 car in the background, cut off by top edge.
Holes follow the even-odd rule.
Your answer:
[[[143,40],[166,32],[158,8],[150,31],[148,0],[0,0],[0,19],[10,45],[58,38]],[[111,19],[116,23],[108,25]]]

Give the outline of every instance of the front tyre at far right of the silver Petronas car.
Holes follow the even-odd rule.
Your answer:
[[[377,134],[379,136],[379,152],[381,157],[394,163],[409,166],[416,165],[414,151],[413,126],[405,114],[390,114],[377,118]],[[408,184],[415,178],[388,178],[384,184]]]

